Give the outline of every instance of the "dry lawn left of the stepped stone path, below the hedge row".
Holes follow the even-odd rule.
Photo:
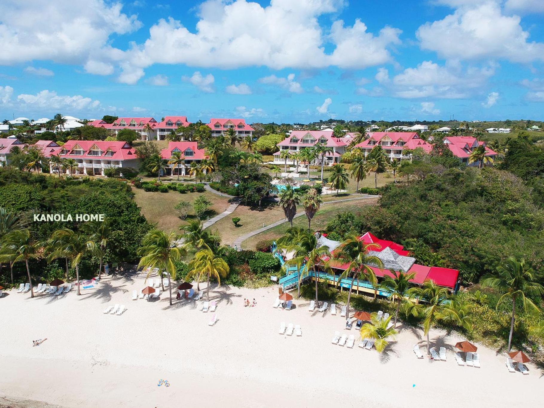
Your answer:
[[[178,217],[177,211],[174,209],[176,204],[180,201],[193,202],[199,195],[206,196],[213,204],[212,211],[209,212],[209,218],[214,217],[215,214],[219,214],[225,211],[228,207],[228,197],[221,197],[217,194],[205,191],[204,193],[185,193],[180,194],[177,191],[168,191],[168,193],[159,192],[147,192],[142,189],[132,189],[134,191],[134,200],[141,208],[141,213],[145,215],[147,221],[152,224],[157,223],[157,228],[166,232],[178,232],[179,227],[187,224],[187,220],[194,217],[187,217],[187,220],[181,220]],[[190,212],[189,214],[192,214]],[[230,221],[232,224],[232,221]]]

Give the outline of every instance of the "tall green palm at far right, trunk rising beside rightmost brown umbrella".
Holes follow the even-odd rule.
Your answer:
[[[511,349],[512,333],[514,333],[516,300],[520,299],[522,310],[527,310],[527,308],[535,311],[539,310],[538,306],[529,298],[529,296],[544,294],[544,287],[535,278],[533,269],[525,263],[524,259],[518,260],[511,256],[502,265],[497,267],[496,274],[485,277],[482,282],[482,286],[491,287],[502,293],[497,302],[497,307],[506,298],[510,298],[512,301],[508,351]]]

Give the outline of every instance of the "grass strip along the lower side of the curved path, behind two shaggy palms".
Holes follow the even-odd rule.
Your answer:
[[[327,223],[333,217],[335,217],[335,215],[338,214],[338,213],[345,212],[345,211],[356,213],[357,211],[360,211],[360,209],[362,207],[375,205],[376,202],[378,202],[378,199],[339,202],[339,203],[334,203],[334,204],[329,204],[329,205],[323,206],[319,210],[319,212],[312,219],[312,230],[320,230],[320,229],[325,228]],[[282,217],[282,215],[280,215],[280,218]],[[280,218],[277,218],[275,221],[279,220]],[[231,222],[231,224],[232,224],[232,222]],[[268,224],[271,224],[271,222],[268,222]],[[293,225],[300,226],[300,227],[307,227],[308,226],[308,219],[306,218],[306,215],[301,215],[301,217],[295,218],[293,220]],[[259,226],[262,226],[262,224],[259,225]],[[284,222],[283,224],[278,225],[278,226],[276,226],[274,228],[271,228],[268,231],[262,232],[262,233],[257,234],[255,236],[249,238],[249,239],[246,239],[242,243],[242,248],[243,249],[255,249],[255,244],[258,241],[262,240],[262,239],[279,238],[283,234],[285,234],[285,232],[286,232],[287,228],[289,228],[289,226],[290,226],[290,224],[288,222]],[[257,228],[255,228],[255,229],[257,229]],[[242,235],[242,234],[239,234],[239,235]]]

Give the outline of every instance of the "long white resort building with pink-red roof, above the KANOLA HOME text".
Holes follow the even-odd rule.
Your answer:
[[[73,174],[88,176],[104,175],[110,168],[137,168],[140,160],[136,150],[124,141],[69,140],[63,146],[49,150],[45,147],[45,157],[60,156],[76,160]],[[69,173],[69,169],[65,169]],[[50,164],[51,172],[58,172],[58,166]]]

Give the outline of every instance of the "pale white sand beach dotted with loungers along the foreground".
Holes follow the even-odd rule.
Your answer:
[[[214,289],[214,327],[202,301],[169,306],[132,301],[143,277],[104,279],[98,289],[67,295],[18,294],[0,299],[0,397],[60,406],[539,406],[541,372],[509,373],[504,355],[479,347],[481,368],[458,367],[460,338],[431,332],[448,348],[447,362],[418,360],[421,331],[403,330],[379,355],[331,344],[344,319],[311,313],[295,300],[291,311],[271,307],[277,287]],[[206,285],[204,284],[203,287]],[[256,307],[244,307],[255,298]],[[102,313],[125,304],[122,316]],[[199,309],[197,310],[197,306]],[[300,324],[302,337],[279,335],[280,322]],[[47,338],[39,347],[32,340]],[[356,342],[357,344],[357,342]],[[170,387],[157,387],[167,379]],[[415,385],[415,386],[414,386]]]

